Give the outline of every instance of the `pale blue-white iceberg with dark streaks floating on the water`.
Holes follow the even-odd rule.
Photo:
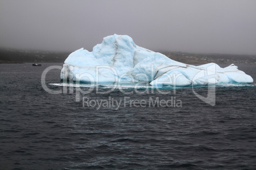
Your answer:
[[[151,86],[204,86],[250,83],[253,79],[234,64],[221,68],[216,63],[189,65],[161,53],[137,46],[131,37],[104,37],[93,50],[78,49],[66,58],[60,72],[64,81],[90,84],[134,84]]]

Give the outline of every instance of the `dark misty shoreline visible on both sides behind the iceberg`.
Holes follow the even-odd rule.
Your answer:
[[[0,48],[0,63],[64,63],[70,53],[68,51],[26,51]],[[256,55],[196,54],[183,52],[162,52],[162,54],[181,63],[256,65]]]

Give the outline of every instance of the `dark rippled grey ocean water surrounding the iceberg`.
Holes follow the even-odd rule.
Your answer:
[[[0,169],[256,168],[255,83],[218,87],[214,107],[191,88],[175,93],[163,89],[171,91],[169,95],[158,91],[125,95],[118,89],[80,95],[80,99],[122,101],[118,109],[108,105],[97,110],[83,107],[69,89],[66,94],[47,93],[41,74],[50,65],[62,63],[0,65]],[[256,80],[255,65],[238,67]],[[48,88],[63,89],[51,85],[62,84],[59,75],[58,69],[46,74]],[[195,91],[206,96],[208,88]],[[125,97],[146,103],[130,107],[123,102]],[[181,105],[148,104],[157,97],[164,101],[175,97]]]

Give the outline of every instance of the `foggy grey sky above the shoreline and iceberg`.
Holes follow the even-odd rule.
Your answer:
[[[153,51],[256,55],[256,1],[0,1],[0,46],[92,50],[126,34]]]

